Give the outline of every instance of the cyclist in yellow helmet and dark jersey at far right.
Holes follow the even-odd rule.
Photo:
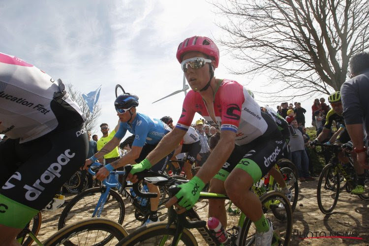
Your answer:
[[[321,142],[326,139],[329,134],[331,133],[331,127],[333,121],[340,124],[339,129],[336,131],[335,134],[330,138],[327,142],[328,144],[334,143],[338,145],[346,144],[350,141],[350,136],[348,131],[345,127],[344,118],[342,116],[343,108],[341,102],[341,93],[340,92],[333,92],[328,97],[328,102],[331,104],[332,109],[328,111],[326,116],[326,123],[323,126],[322,132],[318,135],[316,139],[310,142],[310,146],[314,146],[315,143]],[[345,145],[346,146],[346,145]],[[338,159],[343,163],[348,163],[349,160],[347,157],[343,155],[343,153],[338,154]],[[358,184],[351,190],[353,194],[362,194],[365,191],[364,187],[364,169],[359,165],[357,160],[354,158],[354,167],[355,171],[358,174]]]

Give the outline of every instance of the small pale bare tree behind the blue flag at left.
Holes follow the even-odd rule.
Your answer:
[[[81,108],[83,115],[86,117],[86,129],[88,131],[93,131],[97,126],[97,119],[101,114],[101,106],[97,103],[93,108],[93,114],[90,112],[89,106],[87,106],[85,100],[82,97],[82,93],[74,88],[72,84],[65,85],[67,91],[69,92],[72,99],[78,104]]]

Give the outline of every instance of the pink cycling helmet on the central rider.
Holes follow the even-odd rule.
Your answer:
[[[215,59],[215,67],[219,64],[219,49],[216,44],[208,37],[193,36],[184,39],[182,43],[178,46],[177,50],[177,60],[182,62],[182,56],[190,51],[198,51],[204,53]]]

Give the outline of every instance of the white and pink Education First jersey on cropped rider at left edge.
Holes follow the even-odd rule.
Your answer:
[[[0,53],[0,134],[24,143],[58,126],[50,103],[59,85],[49,75],[21,59]],[[67,107],[82,115],[67,97]]]

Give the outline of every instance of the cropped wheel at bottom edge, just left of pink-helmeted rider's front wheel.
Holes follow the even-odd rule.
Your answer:
[[[97,232],[93,233],[92,231]],[[122,225],[114,221],[104,218],[90,218],[62,228],[43,244],[45,246],[57,246],[62,244],[68,246],[102,246],[110,242],[115,245],[127,235],[128,233]],[[94,240],[94,242],[90,241],[90,239]],[[85,244],[83,244],[83,241],[85,241]]]

